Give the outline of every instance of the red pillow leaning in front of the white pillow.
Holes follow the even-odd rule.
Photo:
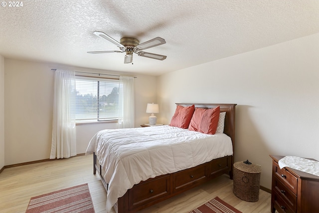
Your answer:
[[[219,119],[220,107],[212,109],[196,108],[188,129],[205,134],[215,134]]]

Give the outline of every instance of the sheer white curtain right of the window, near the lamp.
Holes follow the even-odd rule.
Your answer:
[[[120,76],[119,128],[133,128],[134,113],[134,77]]]

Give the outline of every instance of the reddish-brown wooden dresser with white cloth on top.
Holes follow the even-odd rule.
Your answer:
[[[273,159],[271,212],[319,213],[319,176],[288,167],[280,169],[278,161],[285,156],[270,157]]]

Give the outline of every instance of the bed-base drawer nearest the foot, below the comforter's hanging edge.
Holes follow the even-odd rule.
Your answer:
[[[169,175],[165,175],[160,178],[151,179],[150,181],[135,185],[133,189],[129,190],[130,209],[134,209],[146,203],[150,203],[153,200],[169,195],[169,177]]]

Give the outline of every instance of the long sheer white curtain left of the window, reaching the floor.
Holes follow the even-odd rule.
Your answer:
[[[75,72],[56,70],[50,159],[76,155],[75,95]]]

